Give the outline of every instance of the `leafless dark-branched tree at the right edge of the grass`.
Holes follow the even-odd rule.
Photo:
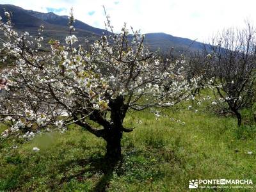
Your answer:
[[[255,29],[227,29],[212,39],[207,55],[209,84],[216,94],[214,104],[232,112],[241,125],[240,109],[252,104],[255,93],[256,47]]]

